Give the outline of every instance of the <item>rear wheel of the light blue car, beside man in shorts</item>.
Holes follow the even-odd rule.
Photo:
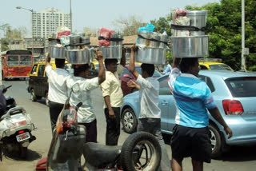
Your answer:
[[[213,125],[209,125],[210,129],[210,144],[211,144],[211,157],[218,157],[222,153],[222,139],[221,135]]]

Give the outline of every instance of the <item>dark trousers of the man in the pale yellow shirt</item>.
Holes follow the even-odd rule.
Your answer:
[[[120,135],[120,108],[112,107],[115,118],[109,117],[109,110],[105,108],[106,117],[106,145],[118,145],[118,138]]]

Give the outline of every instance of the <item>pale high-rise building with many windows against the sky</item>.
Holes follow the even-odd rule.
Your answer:
[[[56,32],[58,26],[66,26],[70,29],[70,14],[48,8],[40,12],[32,13],[32,34],[34,38],[48,38]]]

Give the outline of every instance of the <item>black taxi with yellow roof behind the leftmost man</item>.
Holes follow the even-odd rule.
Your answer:
[[[50,62],[53,69],[56,69],[55,63]],[[70,70],[71,64],[66,62],[65,70]],[[48,78],[46,76],[46,62],[35,63],[30,71],[29,79],[26,81],[28,84],[27,91],[30,93],[31,101],[37,101],[44,97],[46,105],[48,105]]]

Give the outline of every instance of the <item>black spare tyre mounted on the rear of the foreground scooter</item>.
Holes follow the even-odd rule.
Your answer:
[[[146,166],[142,170],[155,171],[158,170],[161,161],[161,147],[158,143],[158,140],[151,134],[146,132],[137,132],[131,134],[124,144],[122,145],[121,152],[121,165],[122,169],[125,171],[136,171],[135,169],[133,154],[136,145],[146,144],[150,146],[150,160],[147,162]]]

